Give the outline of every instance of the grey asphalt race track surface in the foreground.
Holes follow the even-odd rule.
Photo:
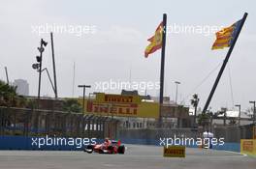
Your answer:
[[[225,151],[186,149],[185,158],[163,157],[163,148],[126,145],[125,155],[83,152],[0,151],[0,169],[247,169],[256,158]]]

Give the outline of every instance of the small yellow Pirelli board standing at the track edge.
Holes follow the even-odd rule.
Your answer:
[[[186,147],[185,146],[169,146],[164,147],[165,157],[185,157]]]

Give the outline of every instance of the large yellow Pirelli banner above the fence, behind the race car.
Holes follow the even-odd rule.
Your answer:
[[[157,119],[159,103],[142,101],[140,96],[97,93],[95,99],[85,99],[84,114]]]

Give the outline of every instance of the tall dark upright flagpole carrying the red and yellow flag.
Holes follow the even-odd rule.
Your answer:
[[[162,105],[164,97],[164,77],[165,77],[165,46],[166,46],[166,20],[167,14],[163,14],[163,37],[161,51],[161,70],[160,70],[160,96],[159,96],[159,121],[158,127],[162,127]]]

